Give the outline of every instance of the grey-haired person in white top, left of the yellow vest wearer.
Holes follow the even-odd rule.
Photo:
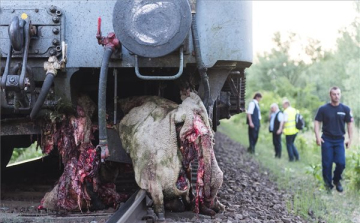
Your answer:
[[[275,148],[275,158],[281,158],[281,133],[284,125],[284,114],[280,111],[276,103],[270,106],[270,126],[272,132],[273,144]]]

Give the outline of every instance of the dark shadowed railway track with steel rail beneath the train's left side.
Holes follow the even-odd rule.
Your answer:
[[[2,170],[0,223],[27,222],[98,222],[98,223],[151,223],[157,216],[150,208],[152,200],[145,190],[139,189],[133,173],[121,174],[116,180],[117,191],[130,198],[118,210],[66,212],[39,210],[41,199],[59,179],[62,170],[57,157],[15,165]]]

